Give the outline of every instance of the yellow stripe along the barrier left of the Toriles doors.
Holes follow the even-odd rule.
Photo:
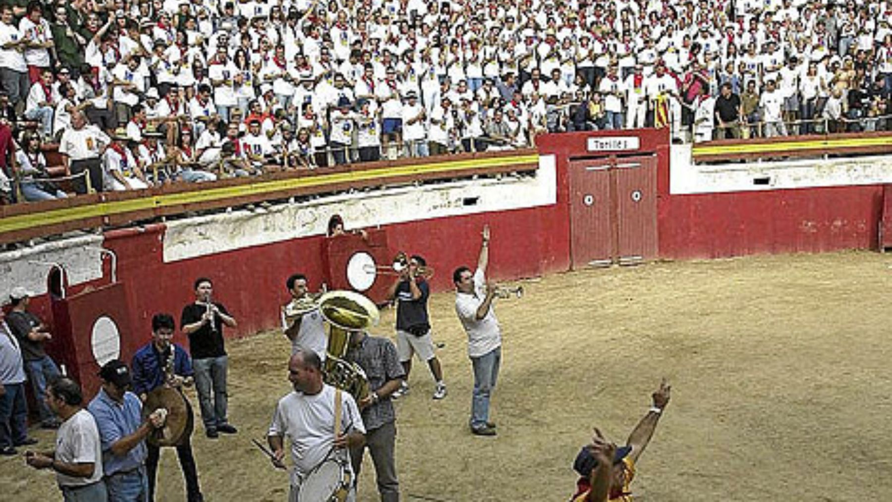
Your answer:
[[[194,191],[181,193],[164,193],[128,199],[127,201],[99,202],[75,208],[48,210],[43,212],[21,214],[0,219],[0,234],[14,232],[35,226],[47,226],[78,219],[102,218],[139,210],[155,210],[169,206],[191,204],[195,202],[214,202],[242,197],[244,195],[260,195],[276,193],[298,188],[333,185],[343,182],[360,182],[401,177],[416,174],[430,174],[446,171],[462,171],[482,169],[496,166],[516,166],[520,164],[538,163],[539,154],[518,155],[514,157],[488,157],[484,159],[453,160],[434,164],[408,164],[382,169],[347,171],[331,174],[320,174],[312,177],[295,177],[261,181],[246,185],[222,186],[219,188],[202,186]]]

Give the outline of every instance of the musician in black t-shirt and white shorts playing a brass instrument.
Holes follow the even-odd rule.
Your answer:
[[[400,357],[406,377],[399,391],[393,393],[399,398],[409,391],[409,371],[412,369],[412,355],[427,361],[434,375],[436,388],[434,399],[446,397],[446,383],[443,383],[440,360],[434,354],[434,342],[431,339],[431,324],[427,316],[427,297],[430,286],[424,276],[418,274],[418,267],[426,267],[424,258],[412,255],[409,264],[401,270],[400,276],[391,285],[388,298],[398,300],[396,308],[396,350]]]

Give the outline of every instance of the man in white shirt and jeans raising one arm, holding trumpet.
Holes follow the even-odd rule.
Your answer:
[[[496,424],[490,421],[490,397],[499,376],[501,363],[501,329],[492,311],[492,300],[498,289],[486,282],[486,266],[490,261],[490,227],[483,226],[483,242],[477,258],[477,269],[458,267],[452,273],[455,283],[455,311],[467,333],[467,355],[474,368],[474,394],[471,399],[471,432],[478,436],[496,435]]]

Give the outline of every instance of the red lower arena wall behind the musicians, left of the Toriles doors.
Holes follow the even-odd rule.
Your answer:
[[[560,208],[558,204],[383,228],[394,251],[421,254],[434,266],[432,286],[434,291],[444,291],[452,287],[455,267],[475,267],[484,224],[491,226],[491,277],[508,279],[566,270],[567,218],[566,210]],[[163,231],[161,225],[142,232],[111,231],[104,244],[118,254],[118,276],[127,286],[130,324],[136,330],[133,336],[142,342],[151,338],[154,313],[169,312],[179,319],[183,306],[194,300],[193,282],[199,276],[211,278],[215,300],[224,303],[239,323],[227,333],[242,336],[279,325],[279,308],[288,300],[288,276],[306,274],[310,288],[315,290],[324,270],[325,237],[321,236],[163,263]],[[556,236],[546,238],[549,235]],[[186,344],[183,338],[175,341]],[[129,358],[131,354],[122,356]]]

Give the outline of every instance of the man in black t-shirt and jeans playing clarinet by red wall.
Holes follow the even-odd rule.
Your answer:
[[[217,438],[219,432],[237,432],[227,420],[227,354],[223,343],[223,326],[235,327],[236,323],[222,303],[211,300],[211,279],[196,279],[194,288],[195,301],[183,308],[180,328],[189,337],[204,433]]]

